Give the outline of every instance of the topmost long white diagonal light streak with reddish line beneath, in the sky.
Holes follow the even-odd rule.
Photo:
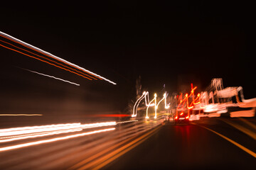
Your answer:
[[[101,77],[100,75],[95,74],[95,73],[93,73],[93,72],[90,72],[89,70],[84,69],[84,68],[82,68],[82,67],[79,67],[79,66],[76,65],[76,64],[73,64],[73,63],[71,63],[71,62],[68,62],[67,60],[63,60],[63,59],[60,58],[60,57],[57,57],[57,56],[55,56],[55,55],[52,55],[52,54],[50,54],[50,52],[46,52],[46,51],[44,51],[44,50],[41,50],[41,49],[38,48],[38,47],[34,47],[33,45],[30,45],[30,44],[28,44],[28,43],[26,43],[26,42],[23,42],[23,41],[21,41],[21,40],[18,40],[17,38],[12,37],[11,35],[8,35],[8,34],[3,33],[3,32],[1,32],[1,31],[0,31],[0,35],[1,35],[2,37],[4,37],[4,38],[8,38],[9,40],[13,40],[14,42],[17,42],[17,43],[19,43],[19,44],[21,44],[21,45],[23,45],[23,46],[25,46],[25,47],[28,47],[28,48],[31,48],[31,49],[36,50],[36,51],[38,51],[38,52],[41,52],[41,53],[43,53],[44,55],[47,55],[47,56],[49,56],[49,57],[54,58],[55,60],[61,61],[61,62],[65,63],[65,64],[68,64],[68,65],[70,65],[70,66],[73,66],[73,67],[75,67],[75,68],[77,68],[77,69],[80,69],[80,70],[82,70],[82,71],[84,71],[84,72],[87,72],[87,73],[89,73],[89,74],[91,74],[91,75],[93,75],[93,76],[95,76],[95,77],[98,77],[98,78],[100,78],[100,79],[104,79],[105,81],[108,81],[108,82],[110,82],[111,84],[116,85],[116,83],[114,83],[113,81],[110,81],[109,79],[106,79],[105,77]]]

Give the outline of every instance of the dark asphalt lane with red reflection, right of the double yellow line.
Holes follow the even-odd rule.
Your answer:
[[[255,135],[255,118],[201,118],[190,125],[166,123],[103,169],[255,169],[255,157],[244,150],[255,153],[255,140],[230,122]]]

